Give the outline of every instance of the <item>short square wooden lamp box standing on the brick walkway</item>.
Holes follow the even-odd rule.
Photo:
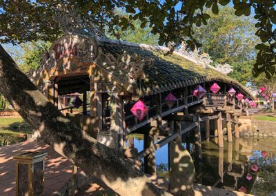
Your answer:
[[[15,155],[15,195],[36,196],[44,194],[44,158],[46,153],[27,152]]]

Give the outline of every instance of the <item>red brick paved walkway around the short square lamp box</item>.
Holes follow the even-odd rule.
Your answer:
[[[37,141],[26,141],[0,148],[0,195],[15,195],[15,161],[13,156],[27,151],[41,151],[45,161],[45,195],[52,195],[72,179],[72,164],[55,153],[50,146]]]

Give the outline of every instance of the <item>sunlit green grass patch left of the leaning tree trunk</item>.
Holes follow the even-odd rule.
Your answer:
[[[1,117],[0,134],[27,134],[32,128],[21,117]]]

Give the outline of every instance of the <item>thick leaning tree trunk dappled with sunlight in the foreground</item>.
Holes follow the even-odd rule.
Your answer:
[[[119,195],[170,195],[152,184],[115,150],[100,144],[64,117],[19,70],[2,46],[0,92],[39,131],[46,144]]]

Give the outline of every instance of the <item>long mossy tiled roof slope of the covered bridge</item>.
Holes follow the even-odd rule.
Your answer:
[[[150,57],[154,59],[154,65],[144,67],[146,79],[141,79],[141,90],[144,95],[151,95],[166,90],[193,86],[206,81],[222,81],[242,90],[250,97],[247,90],[238,81],[218,72],[214,68],[201,66],[175,53],[166,55],[167,51],[161,47],[146,46],[130,43],[99,42],[99,47],[103,52],[118,57],[124,51],[128,55],[140,55],[142,58]],[[97,61],[96,61],[97,64]],[[100,65],[99,65],[100,66]],[[140,84],[139,84],[140,86]]]

